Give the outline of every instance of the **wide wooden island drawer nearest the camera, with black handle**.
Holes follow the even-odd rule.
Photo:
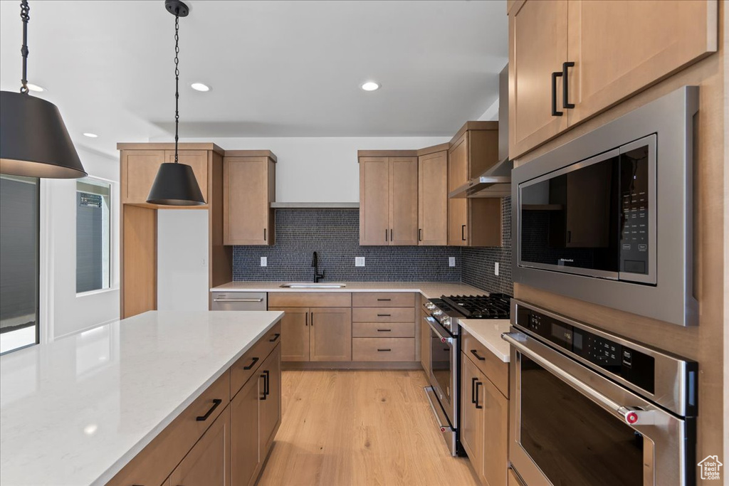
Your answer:
[[[226,370],[108,484],[161,485],[227,407],[229,401],[230,372]],[[206,415],[205,420],[198,420],[198,417]]]

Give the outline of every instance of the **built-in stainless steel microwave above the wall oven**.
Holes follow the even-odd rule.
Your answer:
[[[682,87],[515,168],[514,281],[695,324],[697,111]]]

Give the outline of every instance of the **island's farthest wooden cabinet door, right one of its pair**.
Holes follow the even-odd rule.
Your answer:
[[[276,346],[260,367],[265,396],[260,399],[259,450],[261,461],[268,455],[281,420],[281,346]]]

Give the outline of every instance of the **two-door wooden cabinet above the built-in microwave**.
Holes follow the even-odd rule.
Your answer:
[[[522,0],[508,9],[512,158],[717,50],[716,0]]]

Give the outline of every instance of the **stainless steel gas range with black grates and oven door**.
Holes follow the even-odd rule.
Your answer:
[[[459,434],[459,387],[461,379],[459,319],[508,319],[510,297],[505,294],[451,296],[425,303],[430,315],[430,369],[426,395],[443,439],[452,455],[462,455]]]

